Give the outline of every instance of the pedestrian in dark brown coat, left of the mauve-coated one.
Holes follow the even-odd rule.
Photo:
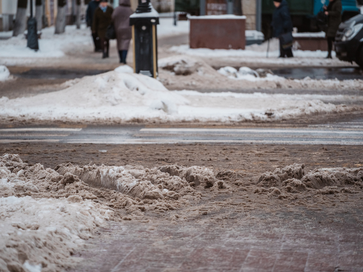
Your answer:
[[[112,23],[112,12],[113,8],[109,6],[108,0],[101,0],[99,7],[94,11],[92,32],[97,33],[100,38],[102,58],[109,57],[109,39],[106,38],[106,30]]]

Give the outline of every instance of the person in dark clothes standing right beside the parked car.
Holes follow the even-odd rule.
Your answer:
[[[327,15],[327,58],[331,58],[333,41],[338,31],[339,24],[342,22],[342,2],[341,0],[329,0],[328,6],[324,6]]]

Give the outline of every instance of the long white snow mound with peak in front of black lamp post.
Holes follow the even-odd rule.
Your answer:
[[[225,78],[225,84],[226,79],[236,81],[216,71],[214,73]],[[282,82],[279,84],[284,81],[278,78],[278,82]],[[309,81],[312,80],[300,80],[296,84],[309,84]],[[272,83],[276,84],[274,81]],[[328,83],[322,81],[321,84]],[[337,84],[340,83],[338,81]],[[362,82],[358,81],[357,84],[362,85]],[[160,81],[131,73],[127,66],[71,80],[66,85],[69,87],[65,90],[32,97],[2,97],[1,120],[3,123],[16,120],[25,123],[62,121],[104,124],[280,120],[317,113],[344,112],[351,109],[339,105],[340,101],[357,102],[363,99],[362,96],[348,95],[168,91]],[[325,103],[324,100],[333,101],[334,104]]]

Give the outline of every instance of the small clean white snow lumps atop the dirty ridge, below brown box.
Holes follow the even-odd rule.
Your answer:
[[[220,68],[218,73],[228,76],[231,79],[237,80],[248,80],[248,81],[259,81],[259,80],[266,80],[266,81],[282,81],[285,80],[284,77],[273,75],[272,73],[265,73],[265,71],[260,71],[261,75],[257,73],[257,71],[252,70],[248,67],[241,67],[239,70],[236,68],[226,66]]]

